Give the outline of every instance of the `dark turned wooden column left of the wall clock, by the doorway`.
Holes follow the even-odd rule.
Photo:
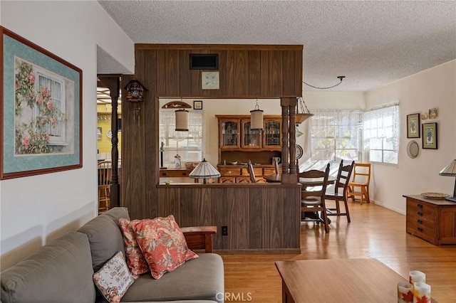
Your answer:
[[[118,100],[120,96],[120,75],[98,75],[98,79],[108,87],[109,95],[111,97],[111,131],[113,137],[111,138],[111,161],[112,161],[112,174],[111,174],[111,196],[109,208],[120,206],[120,186],[119,186],[119,149],[118,149]]]

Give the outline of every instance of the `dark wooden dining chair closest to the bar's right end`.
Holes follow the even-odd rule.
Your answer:
[[[329,233],[328,217],[326,216],[325,192],[328,185],[329,164],[324,171],[312,169],[299,173],[299,178],[318,178],[321,181],[314,182],[313,191],[301,190],[301,221],[317,221],[323,223],[325,233]],[[318,215],[318,212],[320,215]],[[308,213],[317,213],[309,216]],[[304,218],[303,218],[304,217]]]

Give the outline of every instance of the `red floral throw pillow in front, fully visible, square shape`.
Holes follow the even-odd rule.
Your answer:
[[[132,227],[155,279],[160,279],[165,272],[172,272],[185,261],[198,257],[188,249],[174,216],[144,219],[132,223]]]

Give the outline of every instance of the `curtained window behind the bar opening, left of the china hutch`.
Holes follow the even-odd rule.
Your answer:
[[[173,167],[175,155],[180,155],[182,167],[186,161],[201,161],[204,152],[204,111],[189,110],[189,131],[176,132],[175,110],[160,110],[160,144],[164,143],[163,165]]]

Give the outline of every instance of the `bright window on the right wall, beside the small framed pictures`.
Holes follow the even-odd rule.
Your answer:
[[[364,113],[364,149],[369,161],[398,164],[399,105]]]

